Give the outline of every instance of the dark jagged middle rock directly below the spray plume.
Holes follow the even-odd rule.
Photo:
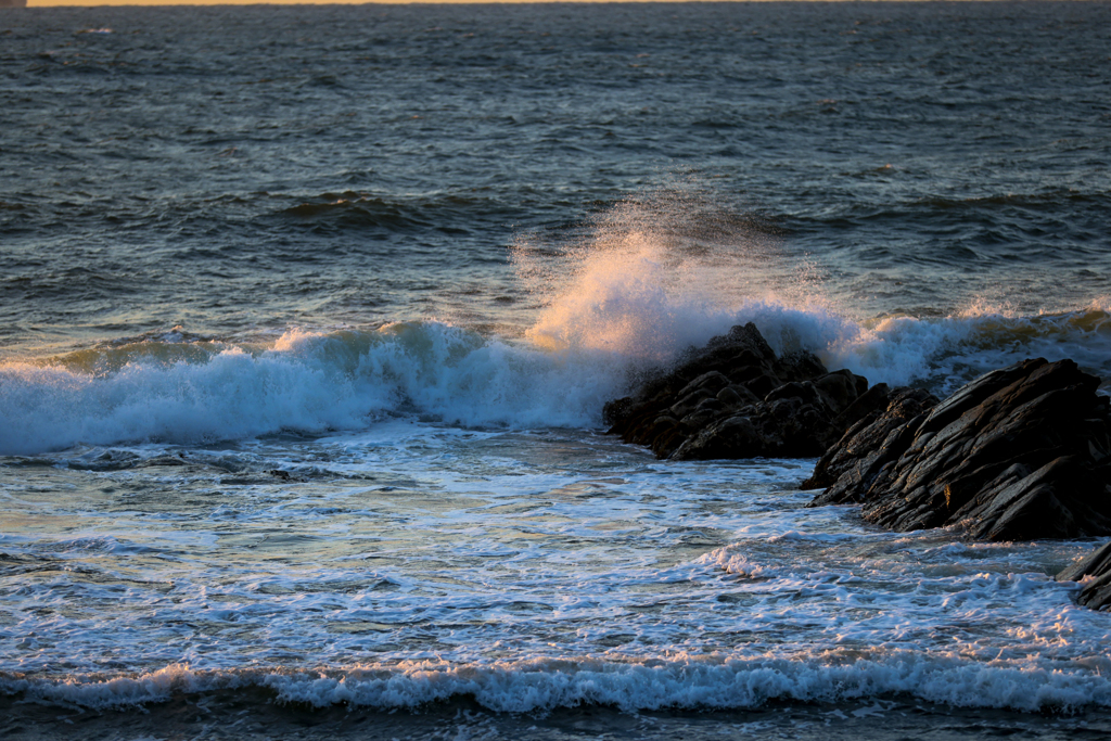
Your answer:
[[[879,387],[878,387],[879,388]],[[853,422],[887,403],[887,387],[847,370],[830,373],[808,352],[778,358],[755,326],[734,327],[605,404],[610,432],[660,458],[821,455]]]

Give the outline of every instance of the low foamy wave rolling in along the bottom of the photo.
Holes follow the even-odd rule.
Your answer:
[[[964,708],[1062,711],[1111,705],[1099,671],[984,665],[959,653],[825,652],[822,655],[685,655],[647,662],[564,657],[453,665],[364,664],[321,672],[192,671],[186,665],[130,677],[37,680],[0,675],[0,693],[93,709],[166,701],[174,694],[272,690],[279,702],[317,708],[419,709],[473,698],[498,712],[608,705],[625,711],[750,709],[769,701],[843,701],[907,694]]]

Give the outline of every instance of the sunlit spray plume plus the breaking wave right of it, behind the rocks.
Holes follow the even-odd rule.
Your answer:
[[[1030,356],[1073,357],[1111,379],[1105,301],[1035,316],[984,300],[948,316],[855,316],[825,290],[821,266],[741,208],[689,177],[629,197],[563,239],[522,236],[514,263],[542,306],[527,338],[651,368],[751,321],[778,353],[808,350],[831,370],[942,394]]]

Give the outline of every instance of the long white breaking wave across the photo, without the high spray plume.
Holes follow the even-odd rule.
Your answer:
[[[1111,322],[1102,313],[897,317],[858,324],[823,308],[764,300],[731,311],[673,308],[663,302],[660,311],[671,323],[662,327],[607,314],[600,333],[574,334],[578,313],[558,322],[546,316],[537,337],[549,346],[561,338],[558,348],[421,322],[369,333],[294,330],[268,349],[228,347],[200,361],[137,351],[119,370],[101,374],[63,363],[7,363],[0,366],[0,454],[352,430],[394,410],[464,425],[594,428],[602,404],[625,392],[630,370],[662,364],[747,321],[781,352],[811,350],[828,367],[849,368],[870,382],[927,383],[941,394],[1038,356],[1071,357],[1111,378]],[[610,310],[604,302],[597,307]],[[657,316],[628,306],[618,313]]]

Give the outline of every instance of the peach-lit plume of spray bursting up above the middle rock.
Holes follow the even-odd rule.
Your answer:
[[[522,238],[514,259],[544,304],[532,342],[645,364],[728,331],[748,304],[781,303],[784,284],[774,239],[691,182],[630,198],[570,241]]]

